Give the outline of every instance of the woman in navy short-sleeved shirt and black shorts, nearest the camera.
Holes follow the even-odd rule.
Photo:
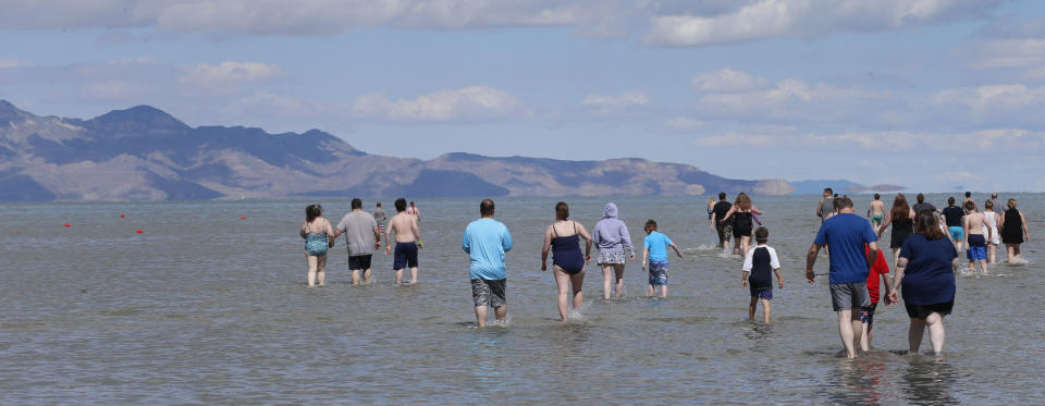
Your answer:
[[[902,286],[903,306],[911,318],[908,331],[910,352],[918,353],[927,324],[933,353],[939,355],[944,350],[944,316],[950,315],[955,306],[955,268],[951,261],[958,257],[958,251],[944,237],[932,212],[918,213],[914,222],[914,235],[900,247],[889,303],[897,302],[897,286]]]

